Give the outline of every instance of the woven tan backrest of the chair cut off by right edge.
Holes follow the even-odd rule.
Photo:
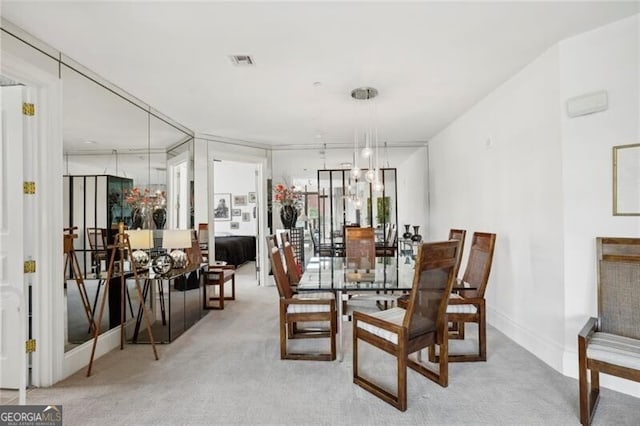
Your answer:
[[[640,339],[640,238],[596,239],[600,331]]]

